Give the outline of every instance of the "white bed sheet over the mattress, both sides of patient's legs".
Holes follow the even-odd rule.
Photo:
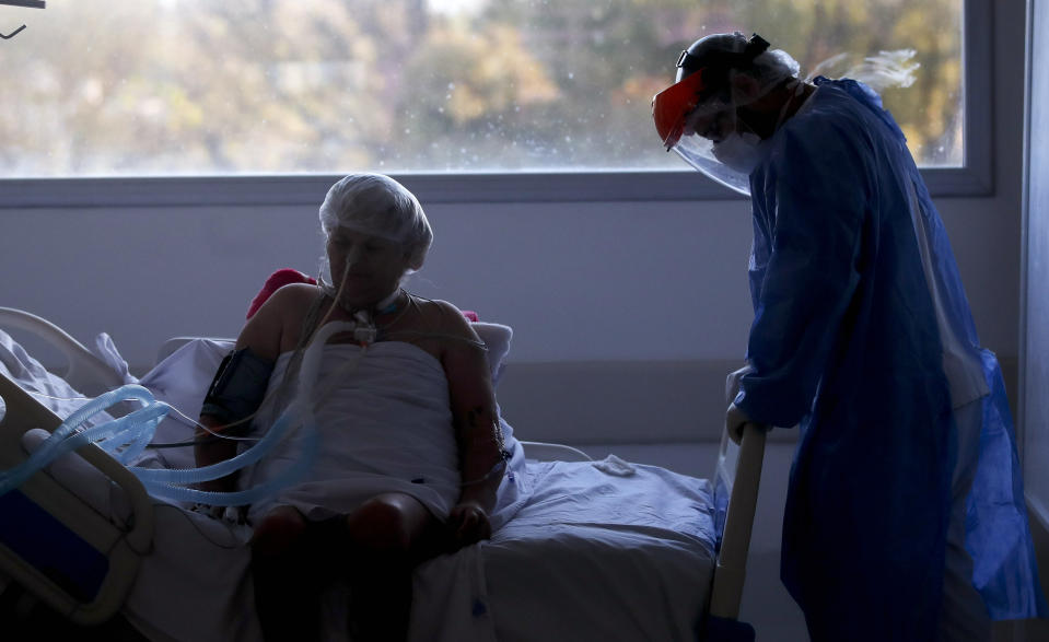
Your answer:
[[[510,523],[417,570],[410,639],[692,640],[713,569],[707,482],[634,468],[529,462],[535,493]],[[158,506],[128,619],[154,640],[259,640],[247,535]],[[347,598],[328,592],[326,640],[347,640]]]

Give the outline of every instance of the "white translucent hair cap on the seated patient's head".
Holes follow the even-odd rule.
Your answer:
[[[408,189],[382,174],[350,174],[328,189],[320,203],[325,243],[339,227],[381,236],[405,248],[408,271],[427,260],[433,231],[419,200]],[[327,254],[320,258],[323,281],[330,282]]]

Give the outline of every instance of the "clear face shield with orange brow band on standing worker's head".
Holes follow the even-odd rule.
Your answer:
[[[652,117],[663,147],[746,196],[761,139],[739,126],[736,110],[760,93],[739,96],[732,80],[736,68],[750,66],[768,47],[761,36],[747,39],[738,32],[697,40],[678,58],[677,82],[652,98]]]

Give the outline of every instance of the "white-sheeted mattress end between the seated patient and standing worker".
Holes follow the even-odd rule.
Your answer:
[[[695,639],[714,564],[708,483],[631,467],[529,463],[529,503],[482,547],[500,642]]]

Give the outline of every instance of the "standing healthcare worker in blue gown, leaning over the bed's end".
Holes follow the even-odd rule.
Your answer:
[[[1002,375],[881,98],[707,36],[653,100],[667,150],[749,194],[755,318],[730,431],[801,430],[781,575],[814,641],[989,640],[1046,617]]]

